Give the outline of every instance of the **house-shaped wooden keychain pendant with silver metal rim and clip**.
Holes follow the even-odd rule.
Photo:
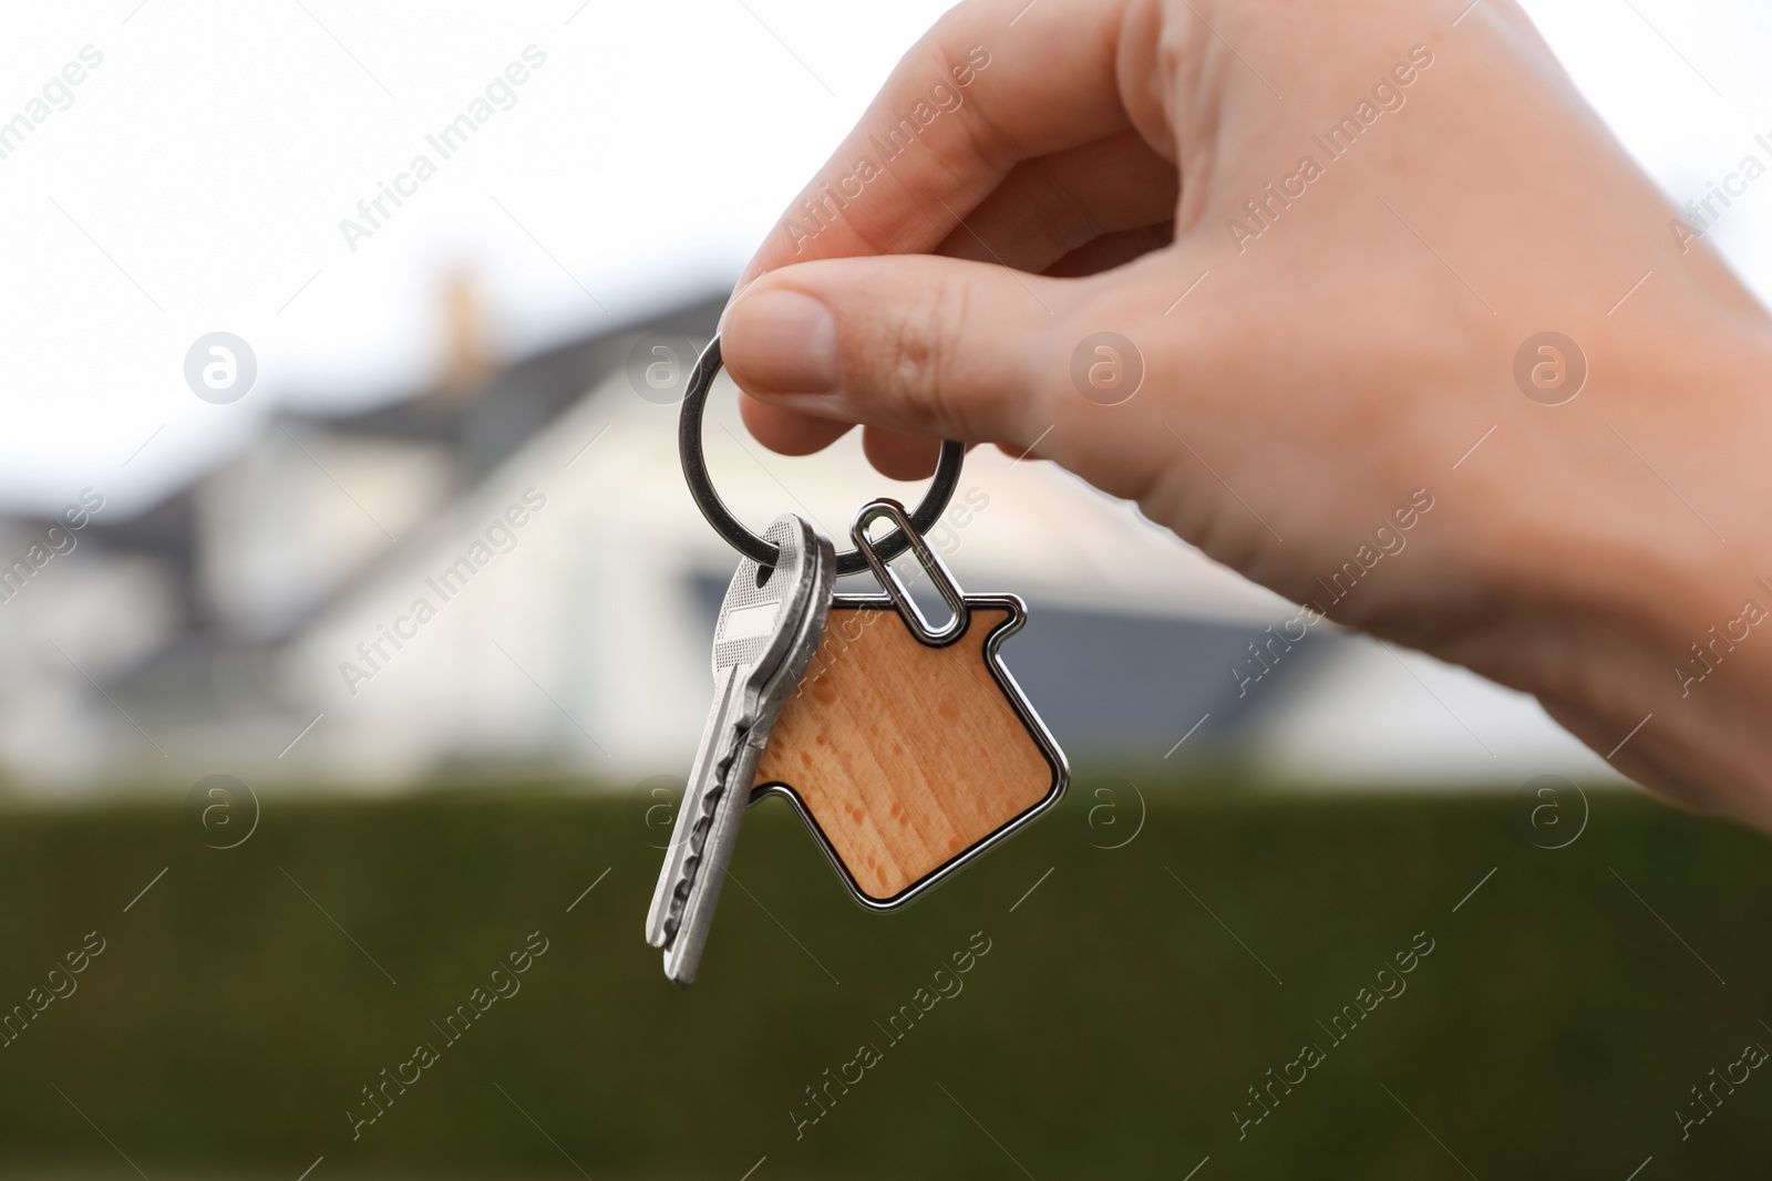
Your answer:
[[[936,630],[867,533],[891,519],[953,620]],[[886,595],[838,595],[751,800],[785,797],[861,905],[902,907],[1053,807],[1065,756],[999,657],[1014,595],[962,595],[897,501],[851,526]]]

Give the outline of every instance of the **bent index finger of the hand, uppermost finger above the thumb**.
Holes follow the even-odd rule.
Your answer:
[[[739,278],[812,259],[932,253],[1019,161],[1131,126],[1122,0],[968,0],[898,62]],[[1154,41],[1155,30],[1150,30]]]

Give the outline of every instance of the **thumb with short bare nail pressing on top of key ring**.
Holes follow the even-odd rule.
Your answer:
[[[1074,280],[959,259],[822,259],[739,292],[721,354],[746,393],[787,411],[1028,443],[1051,421],[1049,352],[1074,290]]]

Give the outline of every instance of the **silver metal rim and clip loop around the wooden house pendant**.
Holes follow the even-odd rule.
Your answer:
[[[881,554],[881,547],[875,545],[867,533],[867,526],[872,524],[874,521],[879,521],[881,517],[893,517],[900,524],[898,536],[907,535],[904,531],[904,524],[907,524],[909,519],[905,517],[904,505],[884,498],[870,501],[856,512],[856,519],[849,528],[849,535],[851,538],[854,538],[856,549],[861,551],[861,554],[868,560],[868,565],[874,568],[875,577],[881,579],[881,584],[886,588],[886,593],[836,595],[831,600],[831,609],[895,611],[904,620],[905,627],[911,630],[911,636],[916,637],[916,641],[927,648],[948,648],[959,639],[962,639],[966,632],[971,630],[971,611],[975,607],[1006,611],[1008,616],[994,629],[991,629],[989,636],[985,636],[983,643],[985,668],[991,671],[992,680],[996,680],[998,687],[1003,691],[1003,696],[1008,699],[1010,708],[1015,712],[1015,719],[1022,724],[1022,728],[1033,738],[1035,747],[1038,747],[1040,754],[1045,758],[1045,765],[1053,772],[1053,783],[1047,788],[1045,795],[1040,800],[1037,800],[1031,807],[1028,807],[1028,811],[1021,813],[996,832],[991,832],[980,841],[962,848],[953,857],[941,862],[927,875],[923,875],[921,878],[918,878],[916,882],[913,882],[911,885],[904,887],[902,891],[898,891],[890,898],[874,898],[872,894],[863,892],[861,884],[856,882],[854,875],[849,871],[849,866],[845,866],[843,859],[838,857],[836,846],[831,843],[831,838],[819,825],[817,818],[806,807],[806,802],[799,799],[799,791],[796,791],[790,784],[776,781],[776,783],[766,783],[760,788],[751,788],[750,806],[755,806],[758,800],[764,800],[771,795],[787,800],[789,806],[796,813],[799,813],[799,818],[806,823],[806,830],[812,832],[813,843],[820,850],[824,850],[824,857],[831,862],[831,868],[836,871],[836,876],[849,889],[849,896],[854,898],[867,910],[875,910],[875,912],[898,910],[900,907],[905,907],[911,901],[927,894],[929,891],[936,889],[937,885],[952,878],[955,873],[959,873],[971,862],[978,861],[992,848],[1010,839],[1012,836],[1031,825],[1035,820],[1049,813],[1053,807],[1056,807],[1058,800],[1063,799],[1065,795],[1065,788],[1070,786],[1070,763],[1065,760],[1063,749],[1060,749],[1058,740],[1053,738],[1053,731],[1045,728],[1045,722],[1040,721],[1040,715],[1033,710],[1033,703],[1028,701],[1028,694],[1024,694],[1021,691],[1021,685],[1015,683],[1015,676],[1008,671],[1008,668],[1005,668],[1001,657],[1003,641],[1019,632],[1028,623],[1028,604],[1022,602],[1019,595],[968,595],[960,591],[959,584],[953,581],[953,575],[948,572],[946,565],[943,565],[941,558],[937,558],[929,549],[929,545],[923,544],[921,536],[911,531],[909,536],[916,538],[913,542],[913,549],[916,552],[918,561],[929,572],[943,600],[953,611],[953,623],[941,629],[939,632],[930,630],[929,620],[925,620],[921,611],[916,609],[916,604],[911,602],[911,597],[904,591],[904,586],[898,583],[897,575],[893,575],[891,568],[886,565],[890,558],[884,558]],[[959,602],[959,606],[955,606],[955,600]]]

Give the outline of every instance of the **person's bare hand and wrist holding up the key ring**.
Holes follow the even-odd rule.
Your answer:
[[[1737,621],[1772,611],[1772,326],[1527,18],[1464,2],[962,4],[804,197],[879,161],[870,135],[982,46],[960,104],[817,234],[796,204],[746,269],[723,317],[744,420],[785,453],[863,423],[900,478],[936,439],[1031,446],[1295,602],[1535,694],[1669,799],[1772,829],[1772,625]],[[1432,64],[1395,85],[1416,46]],[[1313,136],[1380,80],[1402,106],[1331,159]],[[1304,156],[1322,175],[1233,234]],[[1118,405],[1072,381],[1104,329],[1145,363]],[[1542,331],[1589,367],[1559,405],[1513,377]],[[1331,598],[1418,489],[1407,549]]]

